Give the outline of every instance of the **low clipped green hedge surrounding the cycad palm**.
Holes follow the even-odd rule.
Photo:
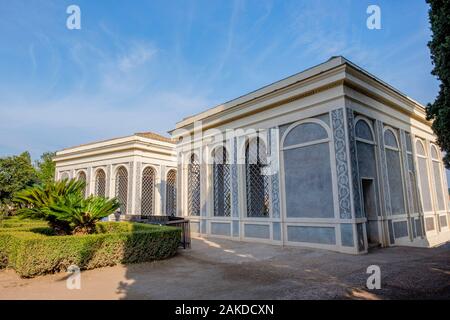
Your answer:
[[[27,229],[28,228],[28,229]],[[53,236],[46,227],[3,228],[0,267],[13,268],[22,277],[138,263],[168,258],[176,253],[179,228],[130,222],[101,222],[97,233]]]

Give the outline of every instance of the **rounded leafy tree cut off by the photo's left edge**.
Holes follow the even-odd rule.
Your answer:
[[[37,182],[28,152],[0,158],[0,202],[10,203],[16,192]]]

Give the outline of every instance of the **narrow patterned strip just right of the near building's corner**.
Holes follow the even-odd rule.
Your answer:
[[[359,186],[359,169],[358,169],[358,155],[356,154],[356,132],[355,132],[355,115],[352,109],[347,108],[347,128],[351,163],[351,177],[353,187],[353,204],[355,208],[355,217],[363,217],[363,210],[361,205],[361,195]]]

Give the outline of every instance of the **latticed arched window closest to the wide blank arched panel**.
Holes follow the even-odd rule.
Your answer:
[[[266,145],[257,137],[250,140],[245,149],[247,217],[269,217],[269,176],[266,169]]]

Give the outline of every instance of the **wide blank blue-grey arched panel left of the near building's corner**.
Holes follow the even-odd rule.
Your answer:
[[[311,119],[288,126],[281,147],[286,217],[334,217],[330,136],[326,124]]]

